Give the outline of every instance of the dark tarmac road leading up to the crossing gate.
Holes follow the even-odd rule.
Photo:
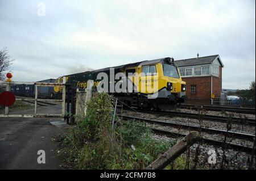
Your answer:
[[[49,123],[60,120],[0,117],[0,169],[63,169],[55,140],[63,132]],[[38,163],[38,150],[45,151],[45,164]]]

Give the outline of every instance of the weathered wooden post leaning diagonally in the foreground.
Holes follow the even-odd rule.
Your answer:
[[[182,154],[188,146],[193,145],[197,140],[199,140],[199,132],[192,131],[183,140],[179,141],[176,145],[166,153],[162,154],[158,159],[146,167],[147,170],[160,170],[164,169],[168,164],[174,161],[180,154]]]

